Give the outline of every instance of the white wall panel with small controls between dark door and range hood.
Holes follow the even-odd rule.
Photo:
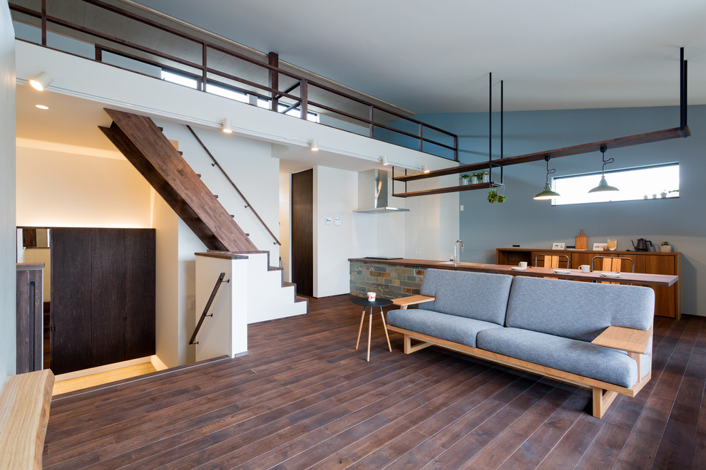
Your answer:
[[[348,258],[358,255],[353,243],[357,207],[356,172],[314,167],[314,297],[350,292]],[[331,225],[326,224],[327,218]]]

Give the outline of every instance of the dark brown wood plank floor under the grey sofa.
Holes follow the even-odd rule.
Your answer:
[[[652,380],[596,419],[588,390],[388,352],[379,315],[365,362],[349,299],[252,325],[245,357],[54,397],[44,468],[706,468],[706,318],[656,320]]]

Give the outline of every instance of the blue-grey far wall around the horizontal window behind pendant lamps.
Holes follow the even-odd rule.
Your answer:
[[[605,154],[615,158],[608,169],[679,162],[679,198],[551,206],[532,199],[543,188],[544,162],[507,167],[505,203],[488,204],[484,190],[461,193],[464,261],[494,262],[496,247],[513,244],[542,249],[553,241],[573,245],[580,229],[589,246],[611,238],[618,239],[619,250],[631,249],[630,239],[668,240],[682,252],[682,313],[706,316],[706,105],[690,106],[688,113],[691,137]],[[461,162],[487,160],[487,113],[418,118],[459,135]],[[511,157],[678,127],[679,108],[526,111],[505,113],[504,121],[504,155]],[[499,116],[493,115],[493,158],[500,151],[499,127]],[[551,160],[554,176],[600,171],[600,164],[599,152]]]

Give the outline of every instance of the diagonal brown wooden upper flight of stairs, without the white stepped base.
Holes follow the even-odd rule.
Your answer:
[[[111,127],[99,126],[108,139],[147,179],[206,248],[257,251],[230,214],[149,117],[104,108]]]

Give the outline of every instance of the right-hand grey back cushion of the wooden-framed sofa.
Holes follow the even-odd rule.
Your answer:
[[[648,330],[654,315],[648,287],[517,276],[506,326],[592,341],[610,325]]]

